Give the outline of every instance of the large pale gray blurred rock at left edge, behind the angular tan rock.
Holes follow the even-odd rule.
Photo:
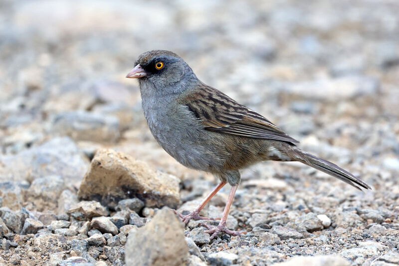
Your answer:
[[[54,138],[16,155],[0,155],[0,180],[25,180],[59,175],[68,182],[80,181],[87,161],[68,137]]]

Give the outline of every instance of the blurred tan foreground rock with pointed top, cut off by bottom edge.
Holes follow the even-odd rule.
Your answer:
[[[129,266],[181,266],[188,257],[183,224],[166,207],[145,227],[130,231],[125,246]]]

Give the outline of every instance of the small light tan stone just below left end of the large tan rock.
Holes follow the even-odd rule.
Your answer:
[[[72,206],[67,213],[77,220],[86,220],[97,216],[108,216],[109,212],[96,201],[81,201]]]

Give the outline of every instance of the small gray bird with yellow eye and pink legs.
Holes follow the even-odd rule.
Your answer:
[[[213,239],[226,228],[227,215],[240,183],[239,170],[257,162],[298,161],[354,186],[370,186],[337,165],[302,151],[297,140],[269,120],[221,91],[202,83],[177,54],[165,50],[139,56],[128,78],[139,80],[144,115],[158,143],[186,167],[210,172],[220,184],[189,215],[177,213],[185,224],[199,216],[205,204],[228,182],[231,190],[217,227],[207,227]]]

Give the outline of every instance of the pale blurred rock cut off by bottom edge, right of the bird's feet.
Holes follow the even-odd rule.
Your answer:
[[[299,256],[292,258],[284,263],[274,264],[275,266],[350,266],[345,259],[336,255],[323,256]]]

